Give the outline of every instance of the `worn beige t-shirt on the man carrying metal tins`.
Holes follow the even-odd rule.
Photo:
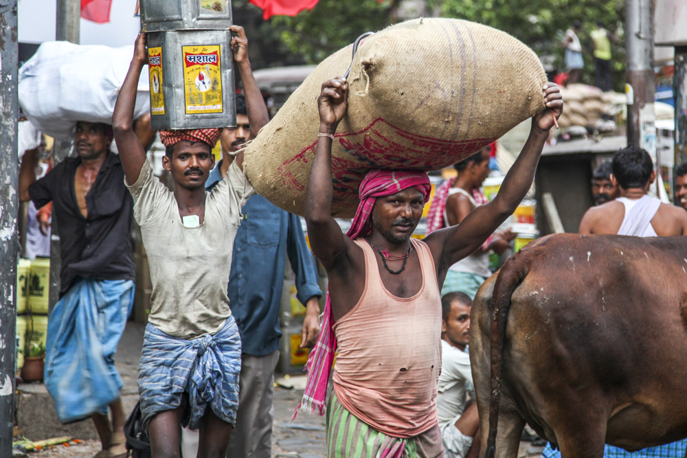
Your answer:
[[[128,189],[153,283],[148,321],[180,339],[215,334],[232,314],[227,282],[234,237],[241,207],[255,190],[233,163],[227,178],[205,196],[203,224],[190,228],[182,224],[177,199],[148,161]]]

